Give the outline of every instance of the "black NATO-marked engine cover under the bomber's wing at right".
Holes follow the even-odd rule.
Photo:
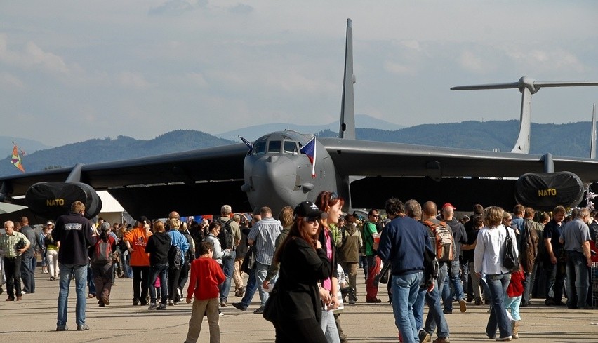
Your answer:
[[[571,172],[526,173],[515,186],[515,200],[536,210],[577,206],[583,199],[583,182]]]

